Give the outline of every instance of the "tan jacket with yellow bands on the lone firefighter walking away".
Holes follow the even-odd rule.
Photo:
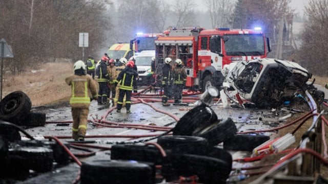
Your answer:
[[[72,75],[65,82],[72,88],[72,108],[89,108],[90,97],[96,98],[98,95],[96,82],[90,75]]]

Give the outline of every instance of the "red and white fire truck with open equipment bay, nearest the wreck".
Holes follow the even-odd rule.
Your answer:
[[[188,75],[186,87],[204,91],[215,86],[220,90],[224,65],[265,58],[269,52],[269,38],[260,30],[171,28],[155,39],[155,74],[161,75],[165,58],[181,59]]]

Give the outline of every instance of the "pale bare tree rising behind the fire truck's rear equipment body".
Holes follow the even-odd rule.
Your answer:
[[[196,19],[196,4],[192,0],[180,0],[173,6],[176,15],[176,27],[193,25]]]

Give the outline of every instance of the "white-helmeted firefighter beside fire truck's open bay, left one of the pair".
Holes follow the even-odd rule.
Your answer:
[[[162,105],[170,106],[168,103],[169,98],[172,98],[172,68],[170,62],[171,58],[165,58],[165,64],[162,67],[162,86],[164,88],[164,95],[162,96]]]

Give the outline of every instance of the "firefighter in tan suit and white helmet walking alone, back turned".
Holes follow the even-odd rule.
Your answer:
[[[75,141],[84,141],[87,133],[90,95],[94,100],[98,98],[96,82],[87,75],[86,65],[81,60],[74,63],[74,75],[66,78],[65,82],[72,86],[70,99],[73,118],[72,138]]]

